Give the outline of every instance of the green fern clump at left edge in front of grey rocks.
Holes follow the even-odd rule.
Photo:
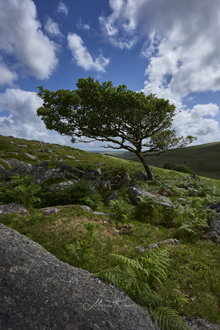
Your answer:
[[[41,187],[33,183],[33,177],[23,173],[9,177],[10,184],[0,187],[0,204],[20,203],[27,208],[41,202]]]

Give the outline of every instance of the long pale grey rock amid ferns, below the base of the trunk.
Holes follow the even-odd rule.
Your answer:
[[[158,194],[151,194],[148,191],[139,189],[139,188],[135,188],[135,187],[130,187],[128,188],[128,192],[131,195],[131,198],[134,202],[136,203],[140,203],[140,199],[138,198],[138,196],[143,196],[146,198],[153,198],[157,201],[157,205],[159,206],[164,206],[167,208],[172,207],[172,205],[170,203],[168,203],[168,200],[165,196],[161,196]]]

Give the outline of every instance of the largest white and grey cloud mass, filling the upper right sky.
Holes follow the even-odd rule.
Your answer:
[[[181,101],[189,92],[220,89],[220,2],[212,0],[110,0],[112,14],[100,17],[119,48],[142,42],[148,59],[145,87]],[[136,39],[135,39],[136,38]]]

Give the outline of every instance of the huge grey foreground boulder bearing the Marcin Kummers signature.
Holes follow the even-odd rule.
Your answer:
[[[1,330],[159,330],[123,290],[59,261],[3,224],[0,246]]]

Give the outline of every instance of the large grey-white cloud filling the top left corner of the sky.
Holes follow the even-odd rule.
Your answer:
[[[58,46],[41,31],[36,6],[32,0],[0,2],[0,51],[4,58],[0,76],[11,84],[20,70],[38,79],[48,78],[56,68]],[[7,58],[13,58],[13,68]]]

